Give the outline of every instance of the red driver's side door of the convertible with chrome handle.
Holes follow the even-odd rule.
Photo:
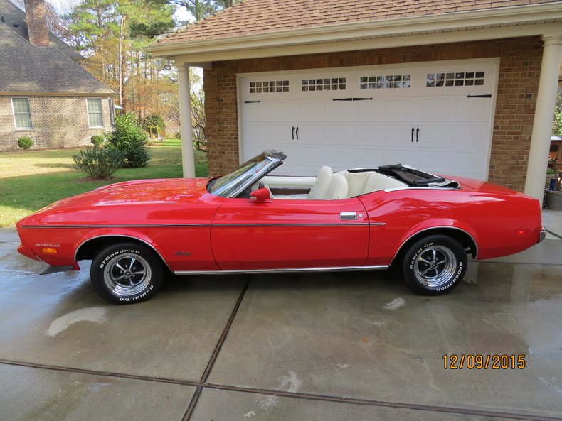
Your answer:
[[[230,198],[213,217],[211,247],[221,270],[364,266],[369,221],[354,197]]]

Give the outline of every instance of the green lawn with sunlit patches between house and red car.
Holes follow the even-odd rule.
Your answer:
[[[121,168],[112,180],[86,180],[74,168],[78,148],[0,153],[0,226],[9,226],[28,214],[64,197],[78,195],[113,182],[181,177],[181,141],[166,139],[150,147],[144,168]],[[206,154],[195,151],[197,177],[206,177]]]

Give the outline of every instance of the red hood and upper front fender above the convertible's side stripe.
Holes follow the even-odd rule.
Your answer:
[[[171,222],[179,213],[186,217],[193,209],[220,205],[223,199],[209,195],[206,183],[202,178],[119,182],[61,199],[17,225]]]

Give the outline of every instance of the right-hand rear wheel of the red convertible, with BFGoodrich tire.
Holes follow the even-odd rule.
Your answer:
[[[423,295],[442,295],[459,285],[467,270],[464,248],[447,236],[416,241],[404,255],[405,283]]]

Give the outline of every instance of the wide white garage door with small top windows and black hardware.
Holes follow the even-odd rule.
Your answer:
[[[240,157],[277,174],[402,163],[487,178],[497,60],[239,75]]]

